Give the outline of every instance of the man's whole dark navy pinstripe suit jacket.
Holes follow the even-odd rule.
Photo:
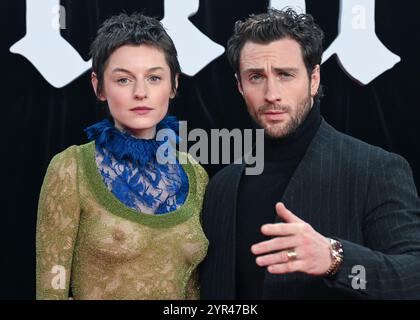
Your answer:
[[[202,299],[236,296],[236,201],[244,168],[224,168],[207,187]],[[340,240],[344,261],[330,278],[266,272],[263,299],[420,298],[420,200],[402,157],[322,120],[281,201],[322,235]],[[280,222],[267,222],[274,221]],[[363,277],[357,266],[365,270],[364,285],[354,277]]]

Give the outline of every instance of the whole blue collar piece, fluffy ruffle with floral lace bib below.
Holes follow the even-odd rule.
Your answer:
[[[156,130],[170,129],[179,142],[176,117],[166,116]],[[186,200],[188,177],[178,161],[160,164],[156,152],[165,141],[139,139],[116,129],[109,120],[85,129],[95,140],[95,159],[107,188],[126,206],[144,213],[164,214]]]

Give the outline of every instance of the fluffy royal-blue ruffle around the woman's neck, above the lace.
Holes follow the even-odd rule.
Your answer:
[[[178,143],[178,128],[177,118],[167,115],[157,124],[156,132],[160,129],[171,129]],[[128,159],[141,167],[156,159],[157,149],[165,143],[156,139],[140,139],[128,132],[120,131],[108,119],[97,122],[84,131],[90,141],[95,140],[96,145],[108,150],[117,160]]]

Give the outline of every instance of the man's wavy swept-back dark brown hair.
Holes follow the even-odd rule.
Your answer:
[[[239,74],[239,59],[247,41],[268,44],[270,42],[292,39],[299,43],[308,76],[317,64],[321,65],[324,33],[310,14],[298,14],[293,9],[268,9],[267,13],[250,15],[244,21],[237,21],[234,33],[227,43],[227,57],[234,72]],[[319,87],[316,98],[322,93]]]

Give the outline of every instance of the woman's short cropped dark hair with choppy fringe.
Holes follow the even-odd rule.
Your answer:
[[[121,13],[104,21],[90,47],[92,69],[98,78],[97,94],[103,90],[104,70],[109,57],[124,45],[150,45],[161,50],[171,72],[172,91],[176,92],[176,74],[181,72],[175,45],[162,23],[152,17]]]

